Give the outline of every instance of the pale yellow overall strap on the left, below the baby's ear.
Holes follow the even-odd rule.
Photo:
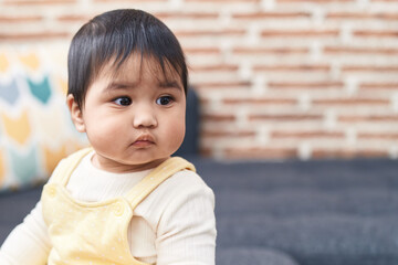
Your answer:
[[[62,186],[65,186],[73,170],[77,167],[80,161],[92,150],[93,148],[87,147],[61,160],[61,162],[59,163],[59,166],[56,167],[56,169],[54,170],[51,177],[51,182],[56,182]]]

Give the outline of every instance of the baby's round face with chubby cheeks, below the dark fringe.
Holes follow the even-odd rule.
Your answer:
[[[168,70],[166,65],[166,70]],[[115,73],[105,65],[88,87],[83,126],[96,151],[93,162],[112,172],[158,166],[181,145],[186,96],[178,73],[165,77],[157,61],[128,59]]]

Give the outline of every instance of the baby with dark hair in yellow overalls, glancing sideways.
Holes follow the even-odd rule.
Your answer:
[[[1,265],[214,264],[214,198],[182,158],[188,71],[172,32],[139,10],[84,24],[66,103],[91,148],[63,159],[0,250]]]

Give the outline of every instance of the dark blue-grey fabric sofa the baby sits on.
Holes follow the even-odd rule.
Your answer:
[[[188,159],[216,193],[218,265],[398,264],[396,161]],[[40,191],[0,194],[0,243]]]

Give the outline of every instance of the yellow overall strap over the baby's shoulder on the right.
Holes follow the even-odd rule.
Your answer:
[[[192,163],[180,157],[172,157],[160,163],[126,194],[126,199],[129,201],[132,209],[134,210],[161,182],[185,169],[196,171]]]

